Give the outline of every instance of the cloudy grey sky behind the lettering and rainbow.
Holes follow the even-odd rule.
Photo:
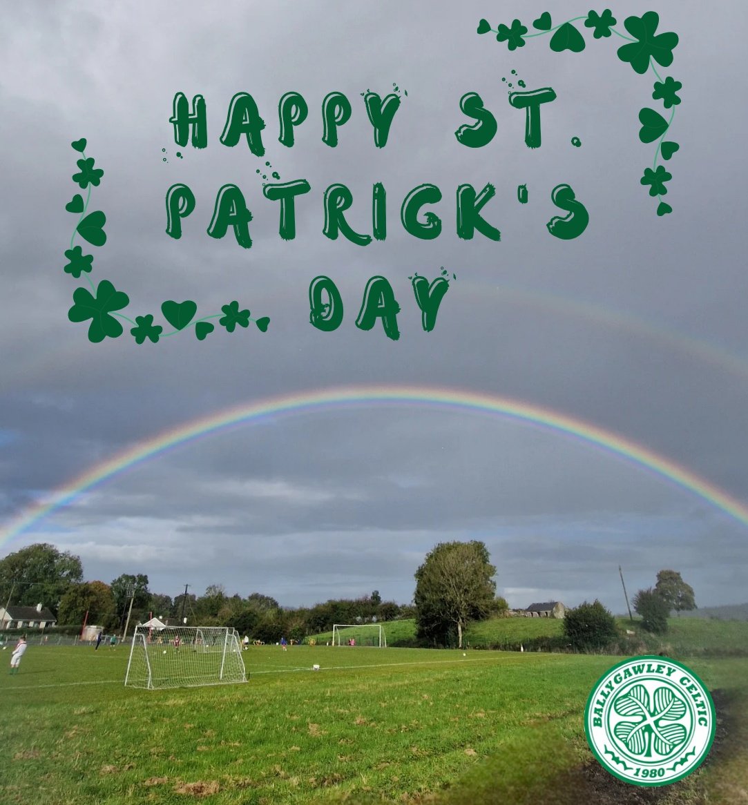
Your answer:
[[[588,6],[554,4],[554,22]],[[672,68],[683,84],[668,138],[672,215],[639,184],[654,148],[638,140],[638,111],[662,110],[651,73],[618,60],[621,39],[554,53],[548,37],[509,52],[477,22],[527,27],[535,2],[313,0],[151,3],[3,2],[0,26],[0,527],[72,478],[194,419],[271,397],[362,384],[429,386],[555,411],[680,464],[748,505],[745,299],[746,6],[663,0],[612,7],[660,13],[676,31]],[[601,6],[602,9],[602,6]],[[600,9],[600,10],[601,10]],[[659,32],[658,31],[658,32]],[[512,76],[511,71],[516,71]],[[543,145],[523,142],[523,113],[506,83],[552,86]],[[374,147],[362,93],[403,94],[389,142]],[[308,102],[291,149],[278,142],[288,91]],[[321,103],[333,90],[353,105],[340,143],[321,142]],[[481,94],[498,133],[481,149],[454,131],[459,101]],[[176,92],[200,93],[209,146],[180,148],[168,119]],[[267,123],[266,155],[219,142],[229,101],[250,93]],[[572,147],[579,137],[581,147]],[[72,324],[63,271],[74,217],[64,205],[79,155],[105,171],[90,210],[105,211],[108,240],[92,279],[130,296],[126,315],[155,314],[165,299],[194,299],[198,316],[238,299],[270,316],[267,333],[192,329],[157,345],[129,335],[92,344]],[[163,151],[166,149],[166,151]],[[181,151],[183,159],[176,156]],[[167,162],[163,162],[164,157]],[[278,235],[278,205],[262,197],[257,168],[312,186],[296,205],[295,240]],[[184,235],[164,233],[164,197],[188,184],[196,210]],[[386,187],[385,242],[364,248],[322,234],[324,189],[353,192],[349,221],[370,229],[374,182]],[[403,231],[399,206],[425,182],[440,237]],[[459,184],[496,187],[486,219],[495,243],[458,239]],[[550,196],[571,184],[588,230],[562,242],[545,223]],[[208,237],[218,189],[242,188],[254,220],[243,250],[230,233]],[[527,184],[529,202],[517,203]],[[83,192],[85,196],[85,192]],[[436,328],[420,325],[411,283],[444,266],[457,275]],[[309,324],[308,285],[337,283],[345,320]],[[402,312],[399,341],[354,322],[366,281],[383,275]],[[219,332],[220,331],[220,332]],[[3,532],[7,536],[7,530]],[[676,568],[700,605],[746,600],[748,526],[651,470],[568,434],[498,414],[433,404],[360,403],[291,411],[157,454],[4,539],[0,555],[47,541],[81,555],[88,579],[147,572],[175,596],[192,585],[253,591],[284,605],[329,597],[410,601],[413,573],[436,543],[483,539],[511,605],[599,597],[625,608],[630,591]]]

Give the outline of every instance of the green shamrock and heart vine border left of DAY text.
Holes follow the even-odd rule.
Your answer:
[[[201,316],[200,319],[195,319],[197,305],[191,299],[187,299],[184,302],[167,299],[166,302],[161,304],[161,312],[167,324],[171,324],[172,328],[174,328],[171,332],[163,332],[163,327],[160,324],[154,324],[154,316],[151,313],[147,313],[145,316],[135,316],[135,320],[132,320],[129,316],[117,312],[124,310],[130,304],[130,297],[124,291],[117,291],[113,283],[108,279],[102,279],[98,286],[94,287],[89,276],[93,268],[93,254],[83,254],[82,246],[73,246],[76,235],[80,235],[91,246],[104,246],[106,242],[105,214],[101,210],[95,210],[93,213],[86,215],[91,200],[91,188],[98,187],[101,184],[101,177],[104,175],[104,171],[101,168],[94,167],[95,160],[93,157],[86,157],[85,147],[87,142],[85,138],[74,140],[70,144],[82,157],[76,162],[80,172],[73,174],[72,180],[81,190],[88,188],[88,193],[85,201],[80,193],[76,193],[68,201],[68,204],[65,204],[65,209],[68,213],[80,213],[80,217],[72,230],[70,248],[65,250],[64,253],[64,256],[68,259],[67,265],[64,266],[64,271],[75,279],[81,279],[81,275],[85,275],[91,290],[89,291],[86,287],[77,287],[73,291],[72,300],[74,304],[68,310],[68,319],[76,323],[91,320],[91,324],[89,324],[89,341],[98,344],[104,341],[105,338],[118,338],[121,336],[124,328],[118,321],[120,319],[134,325],[133,328],[130,328],[130,335],[134,337],[136,344],[143,344],[147,340],[156,344],[162,338],[174,336],[176,333],[183,332],[191,327],[195,328],[197,340],[204,341],[215,330],[215,325],[211,323],[212,319],[218,319],[218,324],[225,328],[227,332],[233,332],[237,324],[240,327],[249,327],[250,321],[254,322],[261,332],[267,332],[267,326],[270,324],[269,316],[253,319],[250,317],[249,310],[239,310],[239,303],[236,300],[221,306],[223,316],[221,316],[221,313],[213,313],[209,316]]]

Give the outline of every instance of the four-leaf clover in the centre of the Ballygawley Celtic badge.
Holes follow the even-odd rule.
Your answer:
[[[634,757],[668,755],[686,741],[687,730],[679,723],[686,715],[686,704],[671,687],[658,687],[650,701],[647,688],[634,685],[618,696],[613,708],[624,719],[615,725],[614,735]]]

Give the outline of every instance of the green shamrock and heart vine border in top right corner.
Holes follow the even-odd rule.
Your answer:
[[[649,194],[657,198],[657,215],[662,217],[672,213],[672,207],[663,201],[663,196],[667,195],[665,184],[672,180],[672,173],[667,171],[664,165],[659,164],[659,159],[667,162],[676,151],[680,150],[680,144],[672,140],[665,140],[665,135],[670,130],[672,122],[676,117],[676,107],[680,105],[680,97],[676,93],[683,88],[680,81],[675,81],[671,76],[664,80],[660,76],[655,61],[661,67],[669,68],[673,62],[673,50],[678,44],[678,35],[672,31],[655,35],[659,25],[659,14],[656,11],[646,11],[641,17],[630,16],[623,21],[623,26],[630,36],[622,34],[613,26],[618,22],[614,18],[610,9],[605,9],[601,14],[597,11],[589,11],[589,14],[573,17],[564,23],[554,26],[549,11],[543,11],[538,19],[533,20],[532,27],[538,33],[528,33],[519,19],[515,19],[510,26],[500,23],[495,29],[491,27],[486,19],[481,19],[478,23],[478,34],[496,34],[498,42],[506,42],[510,51],[515,51],[518,47],[524,47],[527,39],[552,34],[550,47],[557,53],[569,50],[574,53],[581,53],[586,46],[585,38],[573,23],[585,21],[586,28],[592,28],[595,39],[610,39],[614,34],[621,39],[626,39],[626,44],[618,47],[618,58],[623,62],[628,62],[635,72],[639,75],[646,75],[651,70],[654,73],[655,81],[652,98],[663,101],[665,109],[672,109],[670,119],[665,120],[656,109],[644,107],[639,111],[638,118],[642,124],[639,130],[639,139],[645,144],[657,142],[655,148],[655,159],[652,167],[644,169],[640,184],[650,188]]]

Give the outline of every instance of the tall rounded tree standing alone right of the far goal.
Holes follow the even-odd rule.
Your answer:
[[[415,572],[415,624],[419,638],[444,646],[462,634],[470,621],[489,615],[494,606],[494,565],[486,545],[439,543]]]

